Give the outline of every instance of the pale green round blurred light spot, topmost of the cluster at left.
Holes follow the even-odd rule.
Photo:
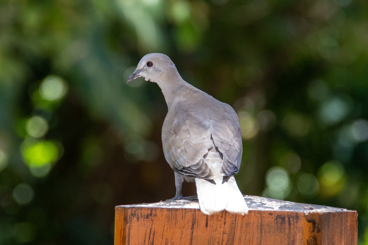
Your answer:
[[[67,83],[59,76],[47,76],[41,83],[39,91],[42,98],[49,101],[59,100],[67,93]]]

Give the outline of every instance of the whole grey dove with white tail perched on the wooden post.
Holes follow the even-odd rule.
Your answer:
[[[248,213],[234,178],[243,151],[234,109],[185,82],[167,55],[145,55],[127,82],[138,77],[157,83],[166,100],[162,145],[175,174],[173,199],[183,198],[184,180],[195,180],[199,207],[205,214],[224,209]]]

